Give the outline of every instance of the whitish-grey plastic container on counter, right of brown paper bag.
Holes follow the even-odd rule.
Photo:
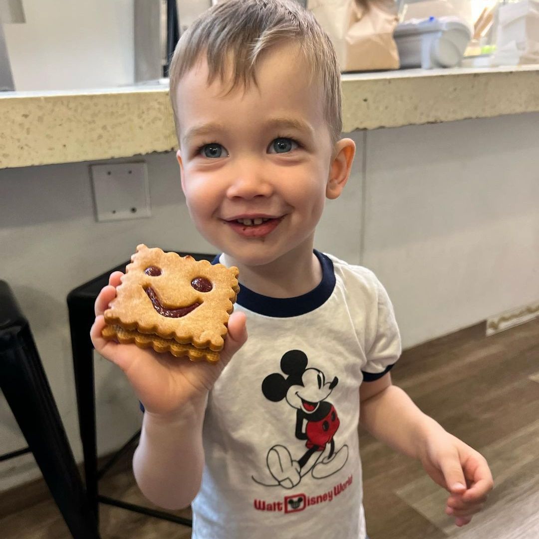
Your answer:
[[[472,30],[458,17],[430,17],[397,25],[393,37],[401,68],[455,67],[461,64]]]

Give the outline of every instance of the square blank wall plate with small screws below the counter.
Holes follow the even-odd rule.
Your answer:
[[[98,221],[151,217],[145,162],[91,165]]]

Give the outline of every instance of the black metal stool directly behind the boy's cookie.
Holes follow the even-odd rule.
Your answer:
[[[183,253],[190,254],[196,260],[209,260],[215,258],[215,254]],[[90,340],[90,329],[95,320],[94,303],[101,288],[108,285],[109,275],[114,271],[125,272],[129,260],[116,267],[108,269],[83,285],[74,288],[67,295],[67,307],[69,309],[69,321],[71,330],[71,347],[73,350],[73,368],[75,373],[75,388],[77,389],[77,405],[79,411],[79,429],[84,453],[84,472],[86,477],[86,492],[90,506],[96,520],[99,521],[99,502],[107,503],[123,509],[155,516],[160,519],[170,520],[184,526],[191,526],[190,519],[155,511],[153,509],[114,500],[108,496],[99,494],[98,482],[101,476],[114,464],[120,456],[128,450],[140,435],[137,432],[127,443],[107,462],[101,471],[97,465],[97,445],[95,431],[95,388],[94,388],[94,364],[93,344]]]

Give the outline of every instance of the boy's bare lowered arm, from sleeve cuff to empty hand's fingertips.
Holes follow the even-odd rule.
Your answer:
[[[392,385],[389,372],[361,384],[360,402],[360,424],[393,449],[419,459],[432,480],[450,492],[446,513],[457,526],[470,522],[493,487],[485,458],[421,412]]]

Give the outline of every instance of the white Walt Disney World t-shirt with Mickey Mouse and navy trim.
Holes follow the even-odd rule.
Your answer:
[[[209,395],[194,539],[365,537],[359,389],[400,336],[374,273],[315,254],[323,278],[305,295],[241,288],[249,337]]]

